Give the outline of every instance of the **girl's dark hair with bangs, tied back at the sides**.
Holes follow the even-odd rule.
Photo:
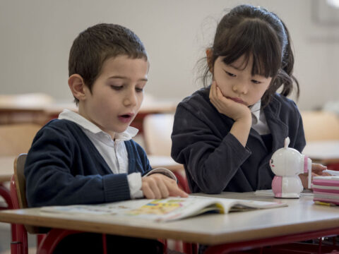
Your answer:
[[[252,75],[272,77],[268,90],[261,101],[266,106],[279,87],[281,95],[290,95],[293,83],[299,83],[292,75],[294,56],[290,44],[290,33],[275,13],[261,7],[240,5],[227,13],[218,24],[215,38],[208,56],[208,66],[203,73],[204,86],[208,86],[215,60],[219,56],[226,64],[233,63],[240,56],[245,62],[253,55]],[[207,61],[206,61],[207,62]]]

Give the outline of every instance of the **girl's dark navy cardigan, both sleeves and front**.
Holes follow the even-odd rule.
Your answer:
[[[172,158],[184,164],[193,193],[245,192],[271,188],[269,160],[290,137],[290,147],[302,152],[306,141],[295,102],[275,94],[263,109],[272,134],[268,150],[253,128],[246,147],[230,133],[234,121],[210,103],[209,87],[179,103],[174,116]]]

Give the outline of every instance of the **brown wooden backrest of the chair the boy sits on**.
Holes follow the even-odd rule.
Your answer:
[[[25,168],[27,154],[20,154],[16,157],[14,161],[14,183],[16,185],[16,194],[18,197],[18,205],[19,209],[27,208],[27,200],[26,200],[26,180],[25,175],[23,174],[23,170]],[[13,195],[11,195],[13,199]],[[25,225],[25,229],[30,234],[41,234],[43,231],[42,228],[37,226]]]

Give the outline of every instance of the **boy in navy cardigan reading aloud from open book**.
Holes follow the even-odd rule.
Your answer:
[[[30,207],[187,196],[172,172],[152,170],[131,140],[138,130],[129,124],[141,107],[148,67],[141,40],[120,25],[94,25],[76,37],[69,87],[78,114],[64,110],[35,136],[25,164]],[[56,253],[100,252],[100,237],[69,236]],[[107,248],[161,252],[157,241],[118,236],[107,236]]]

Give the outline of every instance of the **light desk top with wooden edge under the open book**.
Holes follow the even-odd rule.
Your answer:
[[[250,241],[309,231],[339,231],[339,207],[314,205],[312,196],[300,199],[275,199],[255,193],[222,193],[218,198],[281,201],[288,204],[268,210],[203,214],[176,222],[150,222],[145,219],[121,219],[112,215],[57,214],[40,212],[40,208],[0,212],[0,222],[73,229],[143,238],[172,238],[210,245]]]

